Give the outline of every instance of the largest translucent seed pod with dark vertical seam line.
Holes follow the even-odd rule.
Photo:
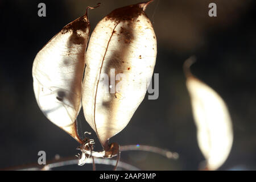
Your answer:
[[[92,32],[86,51],[82,106],[105,150],[141,104],[156,60],[156,36],[138,3],[112,11]]]

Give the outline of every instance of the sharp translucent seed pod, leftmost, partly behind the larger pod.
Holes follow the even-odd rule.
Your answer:
[[[85,15],[67,24],[38,52],[32,68],[40,109],[80,143],[76,117],[81,109],[84,55],[90,31],[88,8]]]

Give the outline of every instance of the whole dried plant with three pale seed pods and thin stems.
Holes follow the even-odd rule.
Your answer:
[[[97,24],[90,40],[88,9],[99,5],[87,7],[85,15],[67,24],[36,55],[32,76],[40,109],[81,144],[77,148],[81,151],[79,161],[73,158],[54,161],[40,169],[75,163],[93,163],[93,169],[95,163],[108,164],[116,169],[120,152],[130,150],[152,151],[177,159],[176,153],[156,147],[109,144],[109,139],[133,117],[154,71],[156,35],[144,12],[151,2],[112,11]],[[221,97],[189,71],[191,60],[185,62],[184,70],[199,146],[207,159],[207,169],[214,170],[229,155],[232,123]],[[94,151],[94,140],[88,136],[82,139],[77,133],[76,118],[81,107],[86,122],[100,140],[102,151]],[[117,156],[115,164],[110,159],[114,156]],[[126,163],[119,163],[119,167],[138,169]]]

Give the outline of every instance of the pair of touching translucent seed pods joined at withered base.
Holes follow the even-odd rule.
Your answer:
[[[67,24],[35,57],[36,101],[51,122],[81,143],[84,155],[117,155],[119,145],[109,144],[109,139],[125,128],[146,94],[156,60],[155,32],[144,13],[150,2],[112,11],[97,24],[90,40],[88,9],[95,7],[87,7],[85,15]],[[106,89],[102,75],[113,73],[114,81]],[[81,107],[102,152],[92,153],[93,140],[77,134]]]

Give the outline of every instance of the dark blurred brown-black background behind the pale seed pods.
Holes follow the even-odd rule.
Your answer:
[[[46,3],[46,17],[38,4]],[[61,30],[89,10],[93,28],[110,11],[141,1],[0,1],[0,168],[36,163],[38,151],[47,159],[77,154],[79,144],[47,120],[32,88],[32,63],[36,53]],[[217,17],[208,16],[210,2]],[[178,160],[148,152],[123,152],[121,160],[141,169],[197,170],[204,160],[182,70],[184,60],[197,57],[192,72],[220,94],[229,107],[234,142],[220,168],[256,169],[256,6],[249,0],[155,0],[146,13],[158,39],[155,73],[159,73],[159,98],[147,96],[129,125],[110,142],[147,144],[179,153]],[[83,114],[80,134],[92,132]],[[96,140],[96,149],[100,144]],[[67,167],[65,169],[92,169]],[[112,169],[104,167],[102,169]]]

